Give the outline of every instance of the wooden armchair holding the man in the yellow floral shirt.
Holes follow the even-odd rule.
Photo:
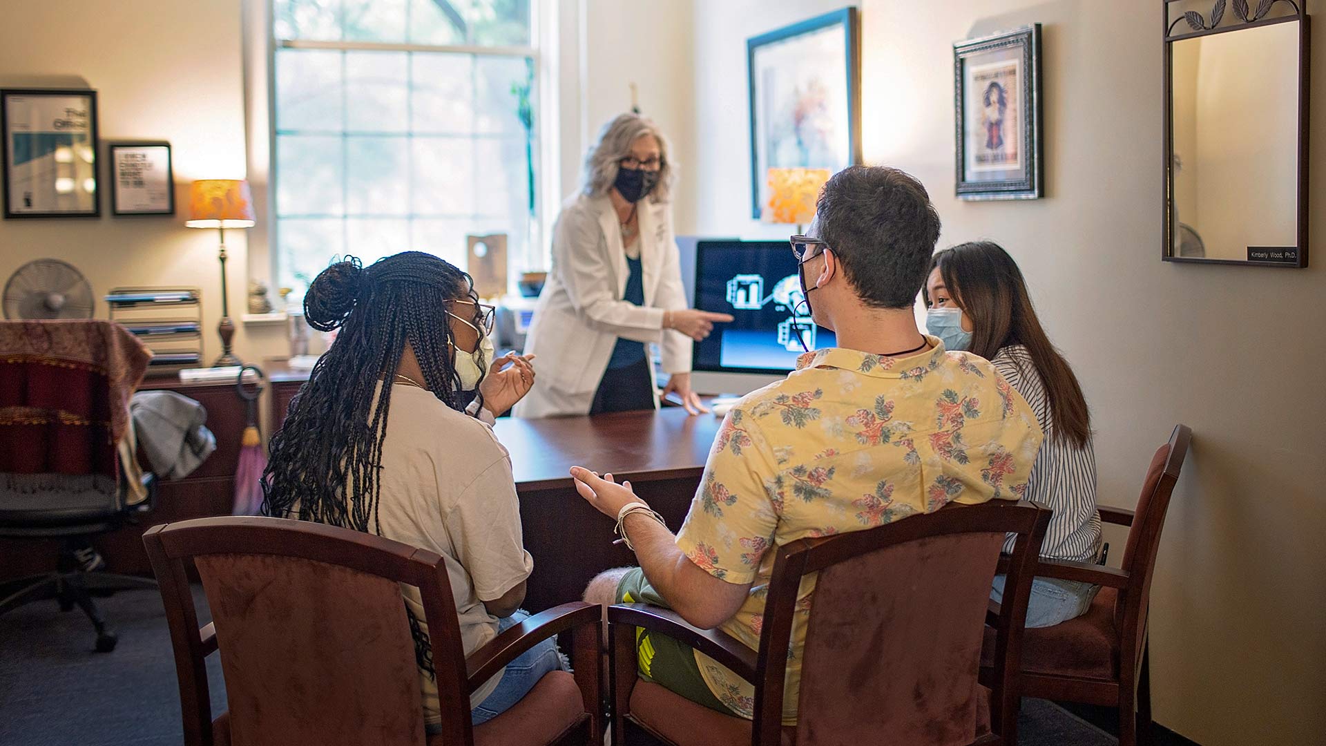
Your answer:
[[[878,528],[777,547],[760,650],[643,604],[609,607],[613,743],[627,727],[674,745],[1002,745],[1017,723],[1020,632],[1049,511],[992,500]],[[1008,677],[977,684],[991,583],[1017,534],[997,645]],[[798,722],[782,726],[797,593],[819,573],[801,669]],[[754,721],[720,714],[638,678],[635,628],[674,637],[754,684]],[[989,708],[987,708],[989,705]],[[989,709],[987,713],[985,710]],[[980,717],[977,710],[981,710]],[[988,727],[979,722],[988,721]]]

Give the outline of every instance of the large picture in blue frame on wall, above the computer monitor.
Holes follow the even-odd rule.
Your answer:
[[[752,214],[769,204],[770,169],[861,163],[861,41],[857,8],[747,40]]]

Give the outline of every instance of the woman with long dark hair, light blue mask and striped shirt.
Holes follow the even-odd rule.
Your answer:
[[[1077,376],[1036,317],[1017,263],[992,242],[945,248],[931,260],[924,295],[930,333],[943,340],[945,349],[968,350],[993,362],[1032,405],[1045,431],[1026,490],[1026,499],[1054,511],[1041,556],[1097,561],[1101,515],[1095,510],[1090,413]],[[1026,625],[1050,627],[1081,616],[1098,589],[1037,577]],[[993,597],[1002,595],[1004,576],[998,576]]]

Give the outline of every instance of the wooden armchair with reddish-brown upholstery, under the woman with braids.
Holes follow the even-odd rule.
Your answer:
[[[602,743],[602,608],[564,604],[464,656],[443,558],[379,536],[277,518],[204,518],[143,535],[175,648],[187,746]],[[199,629],[186,563],[212,624]],[[419,589],[444,730],[426,741],[400,585]],[[574,677],[544,676],[480,725],[469,694],[534,644],[570,631]],[[220,650],[229,710],[215,721],[206,657]]]

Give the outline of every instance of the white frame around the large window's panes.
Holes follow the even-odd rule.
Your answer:
[[[252,1],[252,0],[251,0]],[[556,13],[549,12],[546,7],[552,3],[552,9],[556,11],[556,0],[532,0],[529,4],[529,45],[501,45],[501,46],[484,46],[472,44],[415,44],[415,42],[383,42],[383,41],[358,41],[358,40],[293,40],[293,38],[277,38],[276,37],[276,13],[273,12],[274,0],[257,0],[264,5],[264,31],[265,31],[265,53],[264,53],[264,66],[265,66],[265,82],[267,82],[267,206],[268,206],[268,227],[267,227],[267,254],[268,254],[268,276],[271,277],[269,287],[274,291],[281,283],[281,228],[280,228],[280,211],[278,211],[278,183],[280,183],[280,165],[277,159],[277,89],[276,89],[276,53],[280,49],[324,49],[333,52],[426,52],[426,53],[451,53],[451,54],[471,54],[475,57],[528,57],[532,60],[533,80],[530,81],[530,92],[533,94],[534,102],[534,115],[533,115],[533,129],[530,134],[534,141],[534,149],[530,153],[533,158],[534,170],[534,211],[530,216],[530,235],[525,242],[525,250],[521,254],[508,255],[508,291],[514,287],[516,280],[518,280],[518,272],[512,272],[512,265],[517,261],[530,271],[540,269],[548,265],[548,248],[545,238],[545,210],[548,199],[545,196],[548,185],[557,183],[549,179],[549,169],[557,170],[558,162],[556,158],[557,143],[549,141],[556,133],[556,125],[548,126],[546,122],[554,122],[557,117],[556,102],[550,101],[546,96],[548,85],[550,81],[556,81],[556,70],[549,66],[552,60],[556,58],[556,49],[544,50],[542,46],[548,45],[554,37],[550,32],[556,29]],[[549,25],[550,24],[550,25]],[[556,42],[554,42],[556,44]],[[557,174],[553,174],[556,179]],[[346,246],[346,251],[351,251]],[[328,259],[332,259],[329,256]],[[464,269],[464,267],[463,267]],[[286,309],[290,313],[302,313],[302,311]]]

